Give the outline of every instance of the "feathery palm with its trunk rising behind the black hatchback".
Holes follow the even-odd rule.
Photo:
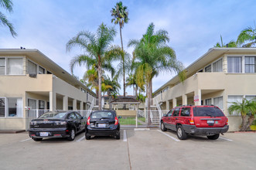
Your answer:
[[[84,49],[85,54],[75,56],[70,62],[71,72],[73,73],[73,67],[77,64],[79,66],[86,65],[87,67],[95,64],[98,74],[98,99],[99,110],[101,110],[101,81],[102,81],[102,69],[104,65],[108,65],[111,59],[113,59],[114,53],[112,52],[111,42],[114,40],[116,31],[112,27],[107,27],[103,23],[97,29],[94,34],[88,31],[81,31],[67,42],[67,51],[78,46]]]

